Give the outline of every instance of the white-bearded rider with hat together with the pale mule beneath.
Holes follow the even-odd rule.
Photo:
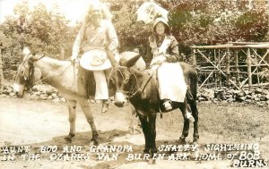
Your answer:
[[[31,55],[29,49],[23,50],[24,58],[15,85],[18,95],[22,97],[24,87],[31,87],[38,79],[58,89],[67,101],[70,132],[65,139],[69,141],[75,135],[75,112],[78,103],[91,125],[91,143],[98,144],[98,133],[88,103],[88,87],[93,81],[89,80],[89,76],[93,72],[96,83],[95,99],[102,100],[101,112],[105,113],[108,111],[108,75],[106,74],[110,73],[109,68],[111,68],[105,49],[108,47],[113,51],[113,55],[116,55],[118,46],[116,31],[110,17],[104,4],[100,2],[90,4],[82,28],[74,41],[72,62],[58,61],[43,55]],[[80,64],[74,63],[81,47],[83,55]]]

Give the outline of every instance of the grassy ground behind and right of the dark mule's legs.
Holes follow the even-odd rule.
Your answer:
[[[269,158],[268,106],[242,104],[198,104],[200,144],[259,143],[261,154]],[[179,111],[158,116],[159,132],[174,131],[178,137],[183,126]],[[158,132],[157,132],[158,134]],[[192,140],[192,125],[188,140]]]

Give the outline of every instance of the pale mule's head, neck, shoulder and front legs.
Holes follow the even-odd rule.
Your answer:
[[[24,48],[23,61],[18,69],[14,89],[17,91],[18,97],[23,97],[24,89],[32,87],[37,80],[42,80],[55,87],[65,97],[69,111],[70,131],[65,139],[72,141],[75,135],[76,104],[78,103],[91,126],[90,144],[97,145],[98,132],[87,101],[87,93],[83,95],[78,93],[77,72],[78,66],[69,61],[59,61],[43,55],[30,55],[30,50]]]

